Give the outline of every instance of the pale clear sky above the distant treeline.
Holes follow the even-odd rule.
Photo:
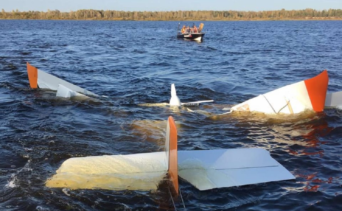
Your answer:
[[[81,9],[122,11],[342,9],[342,0],[0,0],[6,12]]]

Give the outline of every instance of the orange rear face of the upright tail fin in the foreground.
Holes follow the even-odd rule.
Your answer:
[[[177,163],[177,128],[173,117],[168,118],[170,125],[170,152],[169,152],[169,174],[174,189],[179,194],[178,190],[178,163]]]

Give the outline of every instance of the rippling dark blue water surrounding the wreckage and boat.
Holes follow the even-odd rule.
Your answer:
[[[44,185],[70,157],[162,150],[165,125],[140,120],[170,115],[179,150],[261,147],[296,177],[208,191],[180,179],[187,210],[342,210],[341,110],[203,114],[325,69],[328,91],[341,91],[342,21],[204,24],[198,43],[177,40],[176,21],[0,20],[0,210],[172,210],[158,191]],[[30,89],[26,62],[108,98]],[[172,83],[182,102],[215,102],[196,113],[139,105],[168,102]]]

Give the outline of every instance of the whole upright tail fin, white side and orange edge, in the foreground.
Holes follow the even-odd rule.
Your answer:
[[[168,118],[166,129],[165,152],[168,166],[168,173],[175,193],[178,195],[178,163],[177,163],[177,129],[174,119]]]

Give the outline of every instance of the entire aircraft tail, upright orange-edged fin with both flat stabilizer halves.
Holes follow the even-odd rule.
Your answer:
[[[199,190],[295,179],[262,148],[177,152],[177,129],[170,116],[165,151],[70,158],[48,179],[48,187],[153,190],[168,172],[178,194],[178,174]]]

